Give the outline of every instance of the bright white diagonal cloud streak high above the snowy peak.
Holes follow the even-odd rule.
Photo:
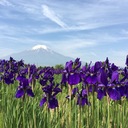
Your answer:
[[[50,9],[47,5],[42,5],[43,15],[61,26],[62,28],[66,28],[67,25],[57,16],[57,14]]]

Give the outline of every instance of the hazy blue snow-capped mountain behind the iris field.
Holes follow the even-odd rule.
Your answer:
[[[30,50],[25,50],[19,53],[14,53],[4,57],[9,59],[13,57],[15,60],[23,59],[27,64],[35,64],[37,66],[55,66],[57,64],[64,65],[67,61],[74,60],[74,58],[61,55],[46,45],[36,45]]]

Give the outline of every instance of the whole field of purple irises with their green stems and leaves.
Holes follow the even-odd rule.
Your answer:
[[[128,56],[63,69],[0,60],[3,128],[128,128]],[[1,128],[2,128],[1,127]]]

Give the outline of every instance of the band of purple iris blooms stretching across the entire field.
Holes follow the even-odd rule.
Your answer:
[[[0,60],[0,82],[12,85],[18,81],[15,97],[24,99],[26,94],[35,96],[34,88],[38,81],[43,93],[40,106],[46,104],[50,109],[59,106],[57,95],[63,91],[63,87],[69,90],[66,98],[75,98],[80,106],[91,105],[88,98],[90,93],[95,93],[99,100],[105,96],[111,100],[128,98],[128,55],[125,64],[126,67],[119,68],[106,58],[104,62],[82,66],[77,58],[67,62],[64,69],[58,70],[53,67],[37,68],[10,57],[8,61]],[[62,76],[60,83],[56,83],[55,74]]]

